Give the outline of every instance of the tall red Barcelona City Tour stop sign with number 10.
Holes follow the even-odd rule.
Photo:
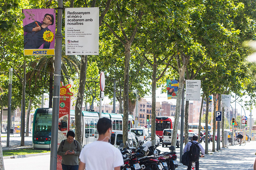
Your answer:
[[[59,95],[59,124],[58,124],[58,146],[62,140],[67,139],[67,132],[69,131],[70,122],[70,103],[71,96],[74,94],[70,92],[71,85],[63,85],[61,82],[60,95]],[[61,165],[62,157],[57,155],[57,170],[62,170]]]

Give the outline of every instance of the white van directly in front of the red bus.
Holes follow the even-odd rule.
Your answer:
[[[164,146],[167,147],[168,145],[174,146],[171,144],[172,136],[173,136],[173,129],[164,129],[163,130],[162,147],[164,147]],[[180,141],[181,141],[181,131],[178,130],[177,143],[176,143],[177,148],[179,148]]]

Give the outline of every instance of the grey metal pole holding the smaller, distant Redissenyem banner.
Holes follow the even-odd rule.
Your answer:
[[[185,73],[184,73],[185,75]],[[181,163],[181,157],[183,154],[183,130],[184,130],[184,100],[185,99],[185,84],[183,84],[182,95],[181,95],[181,141],[180,141],[180,153],[179,153],[179,163]],[[176,143],[174,144],[174,146]]]

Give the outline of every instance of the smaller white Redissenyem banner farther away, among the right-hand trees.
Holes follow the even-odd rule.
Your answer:
[[[186,100],[200,101],[201,80],[186,80]]]

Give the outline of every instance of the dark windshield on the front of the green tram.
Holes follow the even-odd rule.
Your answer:
[[[34,135],[51,136],[51,113],[37,113]]]

